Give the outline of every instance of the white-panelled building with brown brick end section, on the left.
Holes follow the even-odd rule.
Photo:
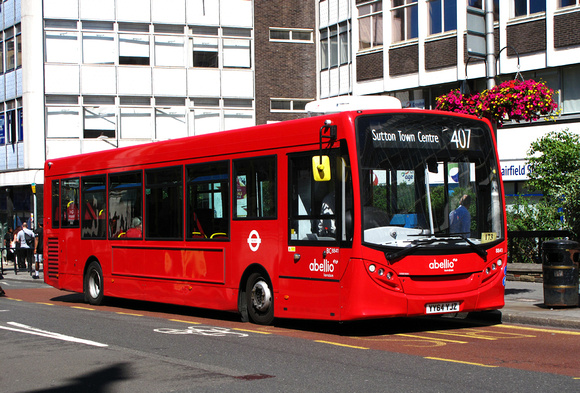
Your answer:
[[[316,96],[314,10],[0,0],[2,229],[42,219],[47,159],[304,116]]]

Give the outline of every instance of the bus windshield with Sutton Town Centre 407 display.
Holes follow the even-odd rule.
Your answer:
[[[356,132],[365,243],[477,249],[505,236],[487,123],[420,112],[362,115]]]

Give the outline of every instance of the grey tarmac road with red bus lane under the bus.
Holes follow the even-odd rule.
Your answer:
[[[0,299],[1,392],[577,392],[580,331],[410,318],[277,320],[45,285]]]

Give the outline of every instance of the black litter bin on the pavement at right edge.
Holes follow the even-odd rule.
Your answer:
[[[578,306],[580,245],[571,240],[548,240],[542,245],[544,304]]]

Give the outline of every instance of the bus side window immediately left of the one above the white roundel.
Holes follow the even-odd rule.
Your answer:
[[[188,239],[227,239],[230,234],[228,161],[187,167]]]

